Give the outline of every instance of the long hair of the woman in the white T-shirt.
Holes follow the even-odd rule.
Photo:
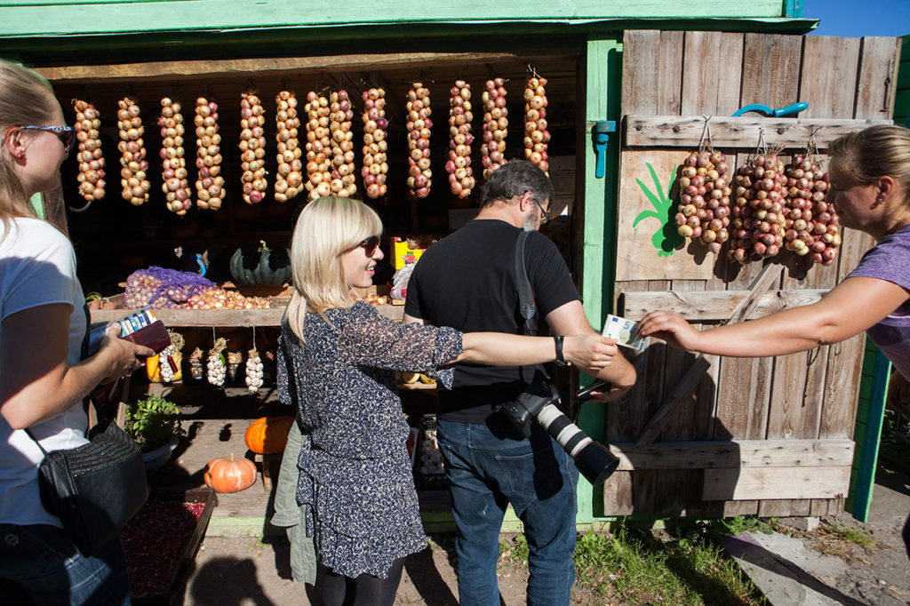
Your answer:
[[[35,217],[35,210],[13,169],[6,129],[47,124],[54,119],[55,109],[54,89],[43,76],[0,59],[0,221],[7,227],[11,218]]]

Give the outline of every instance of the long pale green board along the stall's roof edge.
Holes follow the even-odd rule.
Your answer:
[[[682,5],[673,0],[525,0],[518,4],[376,3],[373,0],[310,0],[306,7],[288,0],[258,0],[255,9],[236,0],[29,1],[0,4],[0,35],[126,34],[136,31],[225,31],[258,27],[338,25],[428,25],[437,23],[585,23],[629,18],[782,18],[780,0],[744,5]]]

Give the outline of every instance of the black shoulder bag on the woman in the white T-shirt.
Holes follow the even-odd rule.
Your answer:
[[[88,308],[86,338],[88,348]],[[89,443],[75,449],[48,452],[29,429],[45,459],[38,466],[41,504],[55,515],[84,555],[91,555],[123,530],[126,522],[142,509],[148,498],[146,467],[142,450],[89,395],[84,402],[95,406],[98,422],[88,430]]]

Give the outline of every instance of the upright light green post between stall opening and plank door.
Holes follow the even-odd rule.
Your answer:
[[[591,326],[600,329],[612,311],[613,277],[616,273],[616,185],[619,177],[620,136],[611,136],[604,178],[594,177],[597,157],[591,127],[600,120],[620,119],[622,86],[622,42],[618,39],[591,40],[585,55],[584,200],[582,207],[581,293]],[[581,410],[579,425],[593,439],[606,435],[607,405],[589,403]],[[603,515],[602,488],[579,479],[576,522],[591,523]]]

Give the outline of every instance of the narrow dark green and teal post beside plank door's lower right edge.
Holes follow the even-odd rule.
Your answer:
[[[885,394],[891,374],[891,362],[871,342],[867,342],[865,357],[875,359],[872,374],[872,390],[865,406],[863,423],[857,423],[854,431],[856,449],[851,478],[851,490],[844,503],[856,520],[864,522],[869,516],[872,504],[872,490],[875,486],[875,466],[878,462],[878,446],[882,438],[882,419],[885,417]],[[859,408],[859,407],[857,407]],[[857,414],[857,417],[861,415]],[[863,427],[864,426],[864,427]],[[862,433],[860,433],[862,429]]]

